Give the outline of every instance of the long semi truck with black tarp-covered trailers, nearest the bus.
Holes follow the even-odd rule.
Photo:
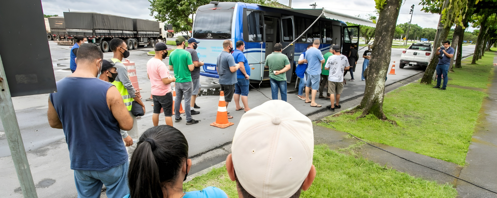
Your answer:
[[[64,17],[61,18],[65,31],[56,36],[59,45],[74,45],[74,37],[84,36],[88,43],[108,52],[109,42],[113,38],[124,40],[128,50],[138,49],[139,46],[155,47],[159,39],[166,38],[166,34],[161,30],[163,23],[157,21],[96,12],[64,12]]]

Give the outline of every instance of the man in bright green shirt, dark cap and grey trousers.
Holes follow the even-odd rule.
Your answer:
[[[197,124],[199,120],[194,120],[191,117],[190,100],[191,92],[193,91],[193,84],[191,82],[191,71],[195,68],[191,60],[190,52],[185,49],[185,38],[182,36],[176,37],[176,49],[169,55],[169,65],[174,68],[174,77],[176,78],[176,83],[174,83],[174,91],[176,91],[176,98],[174,99],[174,117],[175,122],[181,121],[181,114],[179,113],[179,105],[181,105],[181,99],[185,97],[185,113],[186,113],[186,124]]]

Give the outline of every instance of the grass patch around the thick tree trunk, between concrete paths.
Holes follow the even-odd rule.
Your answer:
[[[465,164],[485,93],[459,88],[445,91],[414,82],[385,95],[383,111],[398,126],[361,112],[330,116],[336,130],[371,142]],[[321,124],[330,127],[326,124]]]

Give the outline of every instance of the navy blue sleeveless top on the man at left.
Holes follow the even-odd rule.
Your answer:
[[[66,77],[57,82],[57,93],[50,94],[73,170],[101,171],[128,160],[119,124],[107,105],[111,86],[98,78]]]

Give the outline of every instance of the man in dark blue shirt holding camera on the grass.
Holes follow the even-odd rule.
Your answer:
[[[438,59],[438,64],[436,65],[436,86],[433,88],[440,89],[440,90],[445,90],[447,87],[447,81],[449,80],[447,78],[447,71],[449,70],[450,66],[450,59],[454,56],[454,49],[450,47],[450,42],[445,41],[443,42],[443,47],[444,49],[440,49],[438,47],[436,50],[436,55],[440,55],[440,59]],[[440,88],[440,83],[442,81],[442,75],[443,75],[443,86]]]

